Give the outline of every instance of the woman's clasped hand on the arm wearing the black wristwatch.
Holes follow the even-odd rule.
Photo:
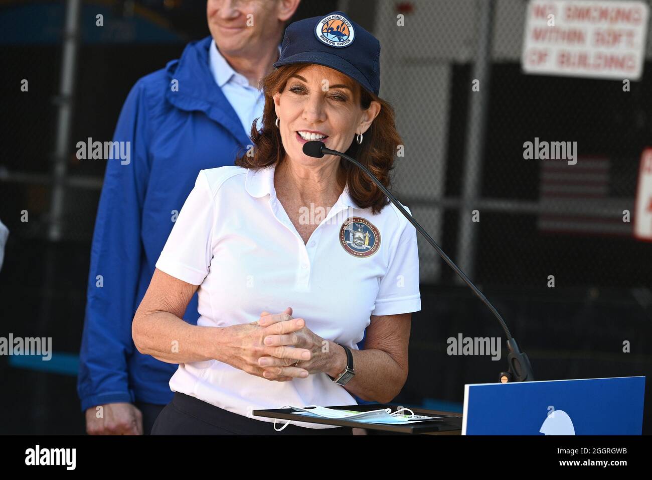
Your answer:
[[[258,320],[258,324],[261,327],[269,327],[269,325],[273,325],[275,322],[276,320],[274,320],[274,317],[269,312],[261,313],[260,319]],[[342,360],[342,357],[338,355],[340,353],[338,349],[342,350],[342,353],[344,349],[334,342],[324,340],[307,326],[289,334],[268,335],[264,338],[263,342],[270,347],[289,345],[310,350],[310,360],[299,360],[299,366],[304,370],[308,370],[308,373],[311,375],[343,369],[343,367],[338,369],[338,363]],[[346,365],[346,357],[344,361]],[[297,360],[293,359],[280,359],[269,356],[258,359],[259,366],[269,372],[270,376],[284,376],[286,374],[286,368],[297,366],[295,364],[296,362]],[[265,375],[263,373],[263,376]]]

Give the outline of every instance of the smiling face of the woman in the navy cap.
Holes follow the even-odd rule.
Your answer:
[[[276,116],[285,151],[291,161],[305,165],[323,159],[308,157],[303,144],[319,140],[327,148],[346,152],[357,133],[367,131],[380,111],[372,101],[363,110],[360,86],[348,76],[321,65],[308,65],[289,78],[282,92],[274,95]],[[334,161],[338,157],[326,155]]]

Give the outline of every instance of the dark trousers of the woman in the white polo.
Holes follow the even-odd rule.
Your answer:
[[[286,421],[276,422],[276,428]],[[175,392],[172,401],[162,409],[152,428],[152,435],[353,435],[344,426],[337,428],[305,428],[288,425],[280,432],[274,424],[203,402],[194,396]]]

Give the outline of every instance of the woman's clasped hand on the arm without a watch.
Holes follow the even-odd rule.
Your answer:
[[[269,315],[268,312],[262,312]],[[268,335],[280,335],[296,332],[305,326],[304,319],[293,319],[292,309],[272,315],[276,323],[269,327],[260,327],[258,321],[224,327],[220,334],[220,345],[216,358],[250,375],[274,381],[289,381],[294,377],[305,378],[308,370],[291,367],[297,360],[310,360],[310,351],[289,346],[268,347],[263,339]],[[270,373],[258,365],[258,359],[265,356],[287,359],[291,376],[270,376]],[[266,374],[265,374],[266,372]],[[263,374],[265,374],[263,376]]]

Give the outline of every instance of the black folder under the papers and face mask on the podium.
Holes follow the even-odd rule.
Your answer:
[[[391,408],[392,411],[400,408],[398,404],[362,404],[362,405],[341,405],[329,406],[329,408],[340,410],[371,411],[384,408]],[[385,432],[403,434],[430,434],[430,435],[460,435],[462,433],[462,413],[450,411],[426,410],[422,408],[409,408],[415,415],[427,415],[428,417],[440,417],[434,420],[426,420],[415,423],[383,424],[356,422],[346,419],[321,419],[308,415],[292,413],[296,411],[291,408],[276,408],[270,410],[254,410],[256,417],[269,417],[280,421],[293,420],[304,423],[320,423],[334,426],[350,426],[353,428],[364,428],[365,430],[382,430]]]

